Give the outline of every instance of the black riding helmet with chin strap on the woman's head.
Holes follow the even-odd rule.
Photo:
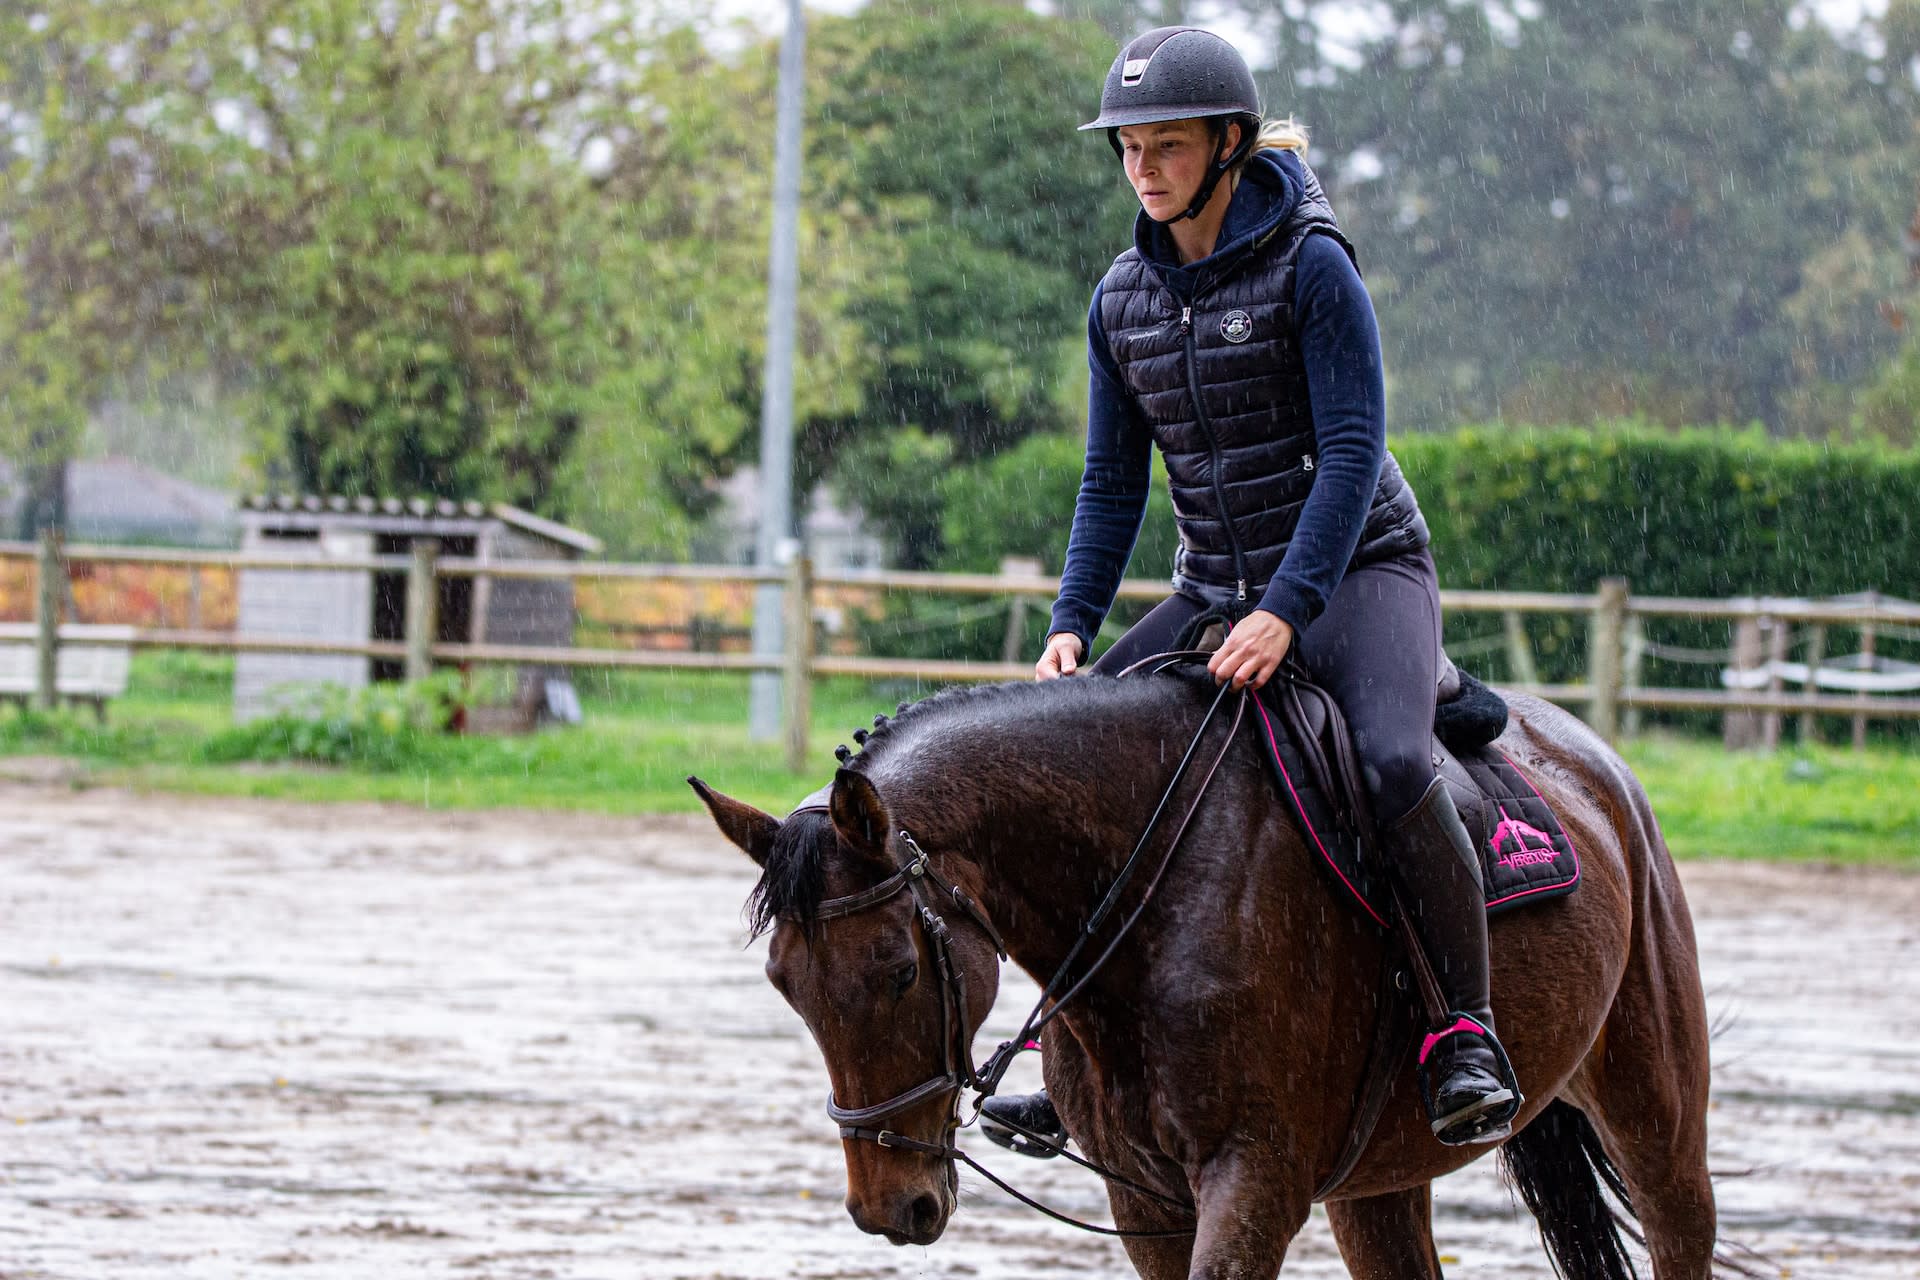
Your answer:
[[[1081,125],[1104,129],[1119,154],[1123,125],[1212,119],[1213,163],[1194,201],[1175,219],[1198,217],[1213,196],[1213,186],[1229,169],[1246,159],[1260,132],[1260,92],[1240,50],[1212,31],[1198,27],[1154,27],[1119,50],[1100,90],[1100,115]],[[1227,121],[1240,123],[1240,142],[1225,152]]]

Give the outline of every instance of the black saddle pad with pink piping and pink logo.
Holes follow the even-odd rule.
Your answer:
[[[1394,917],[1392,887],[1379,867],[1369,865],[1350,806],[1331,794],[1329,783],[1308,764],[1267,700],[1254,699],[1254,706],[1260,712],[1256,737],[1261,754],[1300,819],[1308,850],[1332,877],[1340,896],[1382,929],[1388,927]],[[1438,743],[1434,754],[1446,758]],[[1453,754],[1453,762],[1459,770],[1442,773],[1452,773],[1448,785],[1480,852],[1488,913],[1572,892],[1580,883],[1580,854],[1521,768],[1492,747]],[[1475,794],[1461,794],[1459,773],[1473,781]]]

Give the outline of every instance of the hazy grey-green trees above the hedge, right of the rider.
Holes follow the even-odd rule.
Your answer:
[[[1788,4],[1380,10],[1263,88],[1315,125],[1400,424],[1845,424],[1899,342],[1907,58]]]

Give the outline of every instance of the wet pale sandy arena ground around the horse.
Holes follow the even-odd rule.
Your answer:
[[[931,1249],[852,1226],[824,1069],[741,948],[753,867],[705,821],[12,781],[0,865],[0,1278],[1133,1274],[972,1176]],[[1686,881],[1715,1165],[1749,1171],[1724,1234],[1770,1274],[1920,1276],[1920,877]],[[1436,1201],[1450,1272],[1549,1274],[1492,1161]],[[1286,1276],[1342,1274],[1315,1215]]]

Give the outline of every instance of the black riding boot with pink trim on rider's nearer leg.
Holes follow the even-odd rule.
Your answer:
[[[1513,1132],[1521,1088],[1488,1007],[1480,860],[1442,779],[1386,829],[1386,854],[1450,1009],[1421,1042],[1427,1119],[1448,1146],[1498,1142]]]

